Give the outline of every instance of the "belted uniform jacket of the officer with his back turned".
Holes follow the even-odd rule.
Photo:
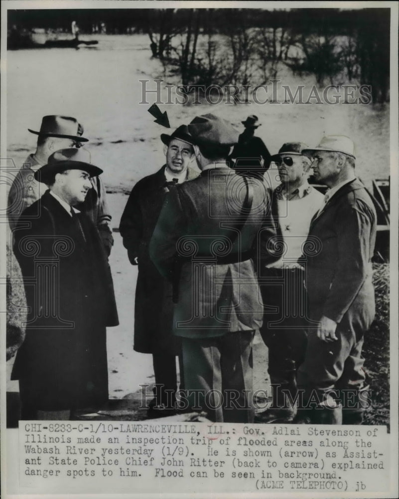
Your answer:
[[[250,182],[253,203],[244,215],[245,179],[227,167],[203,171],[165,199],[150,256],[165,277],[178,271],[177,336],[217,337],[262,325],[253,259],[266,259],[270,199],[263,182]]]

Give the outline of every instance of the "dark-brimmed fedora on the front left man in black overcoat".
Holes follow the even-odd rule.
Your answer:
[[[70,147],[55,151],[48,158],[47,165],[36,170],[34,178],[48,185],[53,181],[56,173],[62,173],[65,170],[83,170],[90,177],[98,177],[103,173],[101,168],[90,163],[90,153],[87,149]]]

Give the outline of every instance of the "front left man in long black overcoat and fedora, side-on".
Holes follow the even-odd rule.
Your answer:
[[[11,375],[22,419],[68,419],[108,401],[106,326],[118,324],[112,276],[96,227],[75,208],[101,173],[84,149],[54,152],[34,173],[49,190],[13,231],[29,309]]]

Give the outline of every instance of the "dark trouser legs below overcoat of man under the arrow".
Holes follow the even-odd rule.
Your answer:
[[[180,390],[184,389],[182,354],[178,355],[180,370]],[[154,395],[157,405],[174,407],[177,390],[176,355],[164,351],[152,354],[155,375]]]

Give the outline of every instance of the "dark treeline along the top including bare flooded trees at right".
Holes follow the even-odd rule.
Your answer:
[[[371,85],[389,100],[390,9],[8,10],[8,27],[147,33],[154,56],[184,85],[262,84],[288,66],[325,82]]]

